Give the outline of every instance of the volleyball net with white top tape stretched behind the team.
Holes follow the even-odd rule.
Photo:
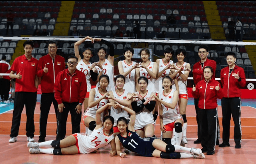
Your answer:
[[[2,37],[0,36],[0,59],[3,55],[6,55],[7,61],[12,64],[13,60],[24,54],[23,43],[25,40],[34,41],[34,49],[32,51],[32,56],[36,59],[40,59],[43,55],[48,53],[47,43],[48,41],[56,41],[58,43],[57,54],[62,55],[65,59],[68,56],[74,55],[74,43],[82,38],[69,38],[69,37]],[[256,98],[255,95],[250,94],[256,88],[256,42],[252,41],[213,41],[213,40],[144,40],[144,39],[116,39],[116,38],[103,38],[104,40],[110,41],[114,44],[114,75],[118,75],[117,63],[120,60],[124,60],[123,49],[124,47],[132,47],[134,49],[133,61],[141,62],[140,55],[138,52],[140,49],[147,47],[150,49],[150,59],[151,61],[156,61],[156,59],[164,58],[164,49],[170,47],[176,51],[178,48],[186,50],[185,62],[190,63],[191,68],[193,65],[200,61],[198,56],[198,47],[200,45],[207,45],[209,49],[209,59],[213,59],[217,63],[216,69],[216,80],[220,80],[220,70],[227,66],[226,53],[233,51],[236,53],[236,64],[244,68],[246,74],[247,85],[242,90],[245,92],[246,98]],[[93,57],[90,62],[97,62],[98,55],[97,49],[99,47],[105,47],[108,51],[108,46],[101,42],[91,43],[90,40],[84,41],[79,45],[79,53],[82,57],[82,52],[84,49],[90,47],[93,50]],[[83,57],[82,57],[83,58]],[[174,63],[177,62],[176,55],[172,57]],[[0,75],[9,75],[0,73]],[[193,82],[192,72],[189,74],[188,78],[188,88],[191,88]],[[254,88],[255,86],[255,88]]]

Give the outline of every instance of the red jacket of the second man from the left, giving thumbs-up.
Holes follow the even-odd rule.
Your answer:
[[[44,73],[44,66],[48,68],[48,73]],[[65,69],[65,59],[60,55],[54,57],[54,65],[52,57],[49,55],[42,56],[38,61],[38,77],[41,77],[42,93],[53,93],[54,82],[60,71]]]

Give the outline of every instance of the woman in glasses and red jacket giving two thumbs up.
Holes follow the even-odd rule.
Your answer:
[[[198,117],[201,126],[202,152],[213,155],[218,133],[218,104],[217,98],[221,99],[222,89],[220,83],[212,78],[212,67],[204,68],[204,80],[199,81],[192,89],[194,98],[199,99]]]

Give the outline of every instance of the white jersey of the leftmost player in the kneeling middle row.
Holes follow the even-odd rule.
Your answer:
[[[100,99],[103,95],[99,92],[99,88],[95,87],[95,95],[94,95],[94,101]],[[89,95],[90,97],[90,95]],[[84,112],[84,116],[90,116],[95,119],[96,117],[96,111],[101,108],[102,106],[106,105],[108,103],[108,99],[102,99],[100,103],[98,103],[96,106],[87,108],[86,111]],[[103,113],[101,113],[101,120],[103,120]]]

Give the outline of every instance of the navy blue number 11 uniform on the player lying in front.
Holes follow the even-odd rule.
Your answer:
[[[122,145],[132,152],[136,152],[142,156],[152,156],[155,148],[152,146],[155,137],[141,138],[136,132],[127,130],[127,136],[117,135]]]

